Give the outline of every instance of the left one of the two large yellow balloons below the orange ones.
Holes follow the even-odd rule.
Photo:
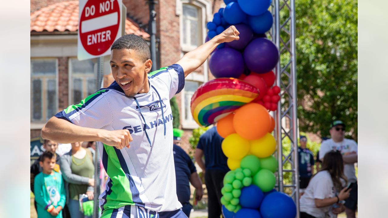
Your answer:
[[[249,141],[242,138],[237,133],[228,135],[222,141],[222,151],[228,158],[235,160],[242,159],[249,151]]]

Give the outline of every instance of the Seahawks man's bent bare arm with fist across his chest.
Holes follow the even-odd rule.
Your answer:
[[[100,130],[74,125],[64,119],[52,117],[42,128],[42,138],[59,143],[100,141],[118,149],[129,148],[132,142],[128,130]]]

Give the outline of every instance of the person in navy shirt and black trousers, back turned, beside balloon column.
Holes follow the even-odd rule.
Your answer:
[[[227,157],[223,154],[221,143],[223,138],[218,135],[214,126],[199,137],[195,159],[205,173],[205,184],[208,190],[208,218],[219,218],[221,215],[223,177],[229,171]],[[205,156],[205,163],[202,157]]]

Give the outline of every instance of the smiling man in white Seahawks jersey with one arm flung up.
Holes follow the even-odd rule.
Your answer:
[[[109,176],[99,196],[102,218],[186,217],[175,188],[169,100],[220,43],[238,40],[238,35],[230,26],[177,63],[151,73],[145,40],[122,36],[111,47],[115,81],[59,112],[42,128],[43,138],[59,143],[98,141]]]

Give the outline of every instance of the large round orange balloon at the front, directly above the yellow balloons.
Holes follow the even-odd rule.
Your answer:
[[[236,133],[241,137],[255,140],[268,133],[271,119],[264,106],[257,103],[249,103],[235,111],[233,126]]]

